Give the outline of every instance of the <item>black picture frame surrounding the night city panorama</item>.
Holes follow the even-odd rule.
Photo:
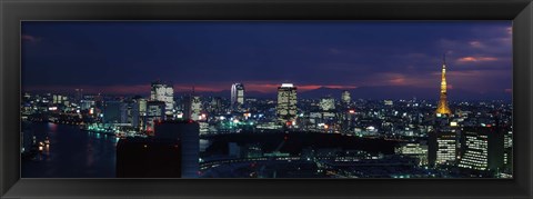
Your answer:
[[[20,179],[21,20],[513,20],[513,179]],[[531,0],[0,0],[0,197],[533,198]]]

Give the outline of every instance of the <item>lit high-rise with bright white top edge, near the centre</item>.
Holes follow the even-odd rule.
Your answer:
[[[296,118],[296,87],[282,83],[278,87],[276,115],[281,122],[292,125]]]

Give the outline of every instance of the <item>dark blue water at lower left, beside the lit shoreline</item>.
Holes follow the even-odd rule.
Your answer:
[[[26,140],[50,140],[42,153],[21,160],[22,178],[115,177],[115,137],[51,122],[22,122],[22,129]]]

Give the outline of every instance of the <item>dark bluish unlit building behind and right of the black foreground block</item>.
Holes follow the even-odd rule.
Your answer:
[[[198,178],[200,171],[200,126],[192,120],[167,120],[155,126],[158,139],[180,140],[183,178]]]

